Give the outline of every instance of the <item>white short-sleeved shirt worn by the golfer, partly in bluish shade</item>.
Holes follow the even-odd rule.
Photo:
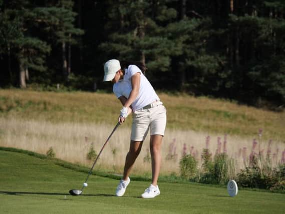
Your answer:
[[[132,76],[136,73],[140,73],[141,80],[139,94],[132,103],[133,111],[143,108],[155,100],[160,100],[149,81],[136,65],[129,65],[128,69],[125,69],[124,79],[114,84],[113,92],[116,97],[124,96],[127,99],[129,98],[132,91]]]

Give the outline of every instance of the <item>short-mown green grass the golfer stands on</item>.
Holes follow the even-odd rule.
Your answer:
[[[95,167],[96,168],[96,167]],[[0,150],[2,213],[284,213],[285,195],[240,190],[229,197],[226,187],[196,183],[159,183],[161,194],[143,199],[149,182],[131,181],[125,196],[116,197],[118,180],[87,174],[24,153]],[[132,179],[132,177],[131,177]]]

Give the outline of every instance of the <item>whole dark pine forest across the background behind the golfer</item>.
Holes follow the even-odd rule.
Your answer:
[[[111,91],[109,59],[153,87],[285,103],[284,0],[0,0],[0,88]]]

